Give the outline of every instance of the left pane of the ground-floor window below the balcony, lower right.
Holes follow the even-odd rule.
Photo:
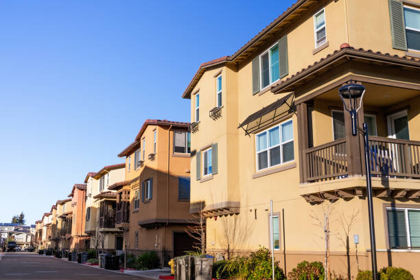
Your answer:
[[[404,211],[387,210],[388,235],[390,248],[406,248],[407,229],[406,213]]]

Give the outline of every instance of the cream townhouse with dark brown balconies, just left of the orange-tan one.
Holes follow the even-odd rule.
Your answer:
[[[100,253],[121,253],[123,233],[115,227],[117,192],[109,187],[124,180],[126,164],[108,165],[100,171],[86,175],[86,224],[90,248]]]

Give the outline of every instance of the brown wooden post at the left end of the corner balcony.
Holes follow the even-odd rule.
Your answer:
[[[301,183],[305,183],[307,181],[305,150],[309,148],[307,131],[307,104],[303,102],[298,104],[296,107],[299,144],[299,176]]]

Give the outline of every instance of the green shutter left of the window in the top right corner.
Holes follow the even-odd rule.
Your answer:
[[[397,0],[388,0],[388,4],[393,48],[406,51],[407,38],[403,4]]]

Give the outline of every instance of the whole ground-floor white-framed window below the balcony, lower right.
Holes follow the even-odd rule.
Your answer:
[[[420,209],[387,208],[390,248],[420,247]]]

